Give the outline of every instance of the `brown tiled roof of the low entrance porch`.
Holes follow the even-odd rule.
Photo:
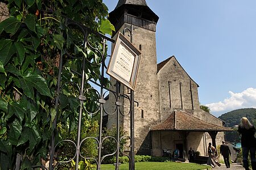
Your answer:
[[[151,130],[187,130],[187,131],[232,131],[230,128],[210,124],[184,111],[174,111],[162,123]]]

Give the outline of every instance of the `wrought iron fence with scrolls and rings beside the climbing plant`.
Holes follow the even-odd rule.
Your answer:
[[[108,156],[114,156],[115,155],[115,169],[119,169],[119,154],[122,155],[126,155],[129,158],[129,169],[134,169],[134,92],[131,91],[130,95],[124,95],[124,94],[120,94],[119,92],[119,88],[121,86],[121,84],[119,82],[117,82],[115,84],[115,91],[114,90],[110,90],[109,88],[107,88],[104,84],[104,79],[105,79],[105,71],[106,71],[106,58],[109,57],[106,53],[106,42],[110,41],[112,43],[114,43],[115,41],[113,39],[110,39],[109,37],[106,37],[105,35],[102,35],[101,33],[98,32],[94,32],[92,30],[90,30],[89,28],[85,27],[84,25],[81,25],[80,23],[77,23],[71,19],[66,18],[65,19],[65,25],[67,26],[68,29],[72,30],[76,30],[79,31],[81,34],[81,36],[83,37],[83,41],[80,43],[82,44],[82,50],[83,52],[86,51],[86,49],[90,49],[93,50],[94,53],[97,53],[98,56],[100,56],[100,59],[98,59],[97,61],[88,61],[88,59],[86,59],[84,56],[73,56],[72,52],[70,52],[71,49],[66,49],[66,53],[65,55],[66,58],[65,59],[69,59],[71,62],[73,59],[81,59],[82,60],[82,66],[81,66],[81,73],[79,73],[78,71],[72,70],[72,74],[76,74],[76,76],[79,76],[81,78],[81,83],[80,84],[76,84],[74,82],[64,82],[63,78],[61,77],[61,73],[63,71],[63,59],[64,56],[61,55],[60,57],[60,61],[59,61],[59,74],[58,74],[58,80],[57,80],[57,97],[55,100],[55,109],[56,109],[56,115],[59,114],[60,109],[59,107],[61,107],[61,103],[60,103],[60,94],[63,92],[63,90],[65,89],[65,87],[68,85],[69,87],[72,86],[72,88],[74,88],[77,92],[79,92],[79,96],[76,97],[77,100],[80,101],[80,106],[79,106],[79,114],[77,115],[77,120],[78,120],[78,124],[77,124],[77,139],[76,141],[72,141],[72,140],[63,140],[60,141],[58,143],[55,143],[55,138],[56,138],[56,130],[57,130],[57,124],[58,124],[58,118],[56,117],[54,122],[53,122],[53,128],[55,129],[55,131],[53,131],[52,133],[52,138],[51,138],[51,150],[49,152],[49,165],[46,166],[33,166],[32,168],[34,169],[57,169],[59,165],[63,165],[63,164],[71,164],[73,163],[75,165],[75,169],[79,169],[79,160],[92,160],[92,162],[96,163],[97,165],[97,169],[101,169],[101,164],[102,164],[102,160],[104,160],[106,157]],[[125,33],[125,31],[129,31],[130,34],[129,36],[132,37],[132,30],[133,28],[125,28],[123,30],[123,33]],[[89,39],[90,36],[94,35],[96,37],[98,37],[100,40],[99,42],[102,45],[103,48],[103,53],[98,50],[97,48],[94,48],[93,45],[90,43]],[[132,41],[132,39],[131,39]],[[100,74],[100,81],[99,82],[95,82],[94,80],[89,80],[91,84],[93,84],[93,87],[85,87],[85,82],[87,81],[86,77],[85,77],[85,69],[88,69],[86,67],[86,63],[94,63],[94,65],[96,65],[97,67],[100,66],[101,67],[101,74]],[[97,88],[99,90],[97,90]],[[96,108],[89,108],[86,107],[85,105],[85,100],[88,100],[86,97],[86,94],[94,94],[94,97],[92,99],[89,99],[90,103],[94,103],[94,105],[97,105]],[[108,111],[106,111],[105,109],[105,104],[106,104],[106,100],[104,99],[106,97],[107,94],[113,94],[114,98],[115,98],[115,103],[114,103],[114,112],[113,113],[109,113]],[[121,107],[122,107],[122,103],[121,103],[121,99],[122,98],[128,99],[129,103],[130,103],[130,111],[129,113],[122,113],[121,112]],[[81,138],[81,124],[82,124],[82,116],[83,113],[86,113],[88,115],[90,115],[91,117],[93,116],[99,116],[99,130],[98,130],[98,136],[96,137],[85,137],[85,138]],[[103,136],[102,135],[102,131],[103,131],[103,116],[104,114],[106,115],[114,115],[116,117],[116,125],[117,125],[117,130],[116,130],[116,136],[112,137],[112,136]],[[130,136],[127,135],[123,135],[120,136],[119,132],[120,132],[120,121],[119,118],[120,116],[130,116]],[[105,155],[102,154],[102,151],[104,150],[104,147],[102,146],[102,143],[104,143],[104,141],[106,140],[112,140],[114,141],[116,148],[114,150],[114,152],[112,153],[106,153]],[[126,154],[123,150],[121,150],[120,148],[120,142],[123,139],[129,139],[130,142],[130,150],[129,150],[129,155]],[[97,156],[96,158],[93,158],[89,155],[83,155],[81,152],[81,148],[83,147],[84,143],[88,140],[93,140],[94,143],[96,143],[96,148],[95,150],[97,150]],[[55,161],[58,159],[58,152],[57,152],[57,148],[61,145],[63,145],[63,143],[65,143],[67,146],[73,148],[73,152],[72,152],[72,156],[71,158],[67,158],[65,160],[62,161]],[[71,153],[70,153],[71,154]]]

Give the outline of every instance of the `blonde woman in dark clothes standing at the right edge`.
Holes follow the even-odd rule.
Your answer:
[[[238,133],[242,135],[241,145],[243,154],[243,167],[249,170],[248,155],[250,151],[251,167],[256,170],[256,139],[254,137],[255,128],[246,117],[241,118],[241,124],[238,126]]]

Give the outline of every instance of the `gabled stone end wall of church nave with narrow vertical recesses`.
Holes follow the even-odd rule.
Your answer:
[[[184,69],[171,57],[159,70],[159,101],[161,121],[175,109],[192,113],[199,108],[197,84],[185,73]]]

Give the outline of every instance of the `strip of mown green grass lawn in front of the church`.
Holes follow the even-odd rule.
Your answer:
[[[208,165],[200,165],[195,163],[176,163],[176,162],[137,162],[135,163],[136,170],[145,170],[145,169],[152,169],[152,170],[200,170],[200,169],[211,169]],[[113,164],[101,165],[102,170],[109,170],[115,169]],[[121,164],[119,166],[120,170],[127,170],[129,169],[129,164]]]

